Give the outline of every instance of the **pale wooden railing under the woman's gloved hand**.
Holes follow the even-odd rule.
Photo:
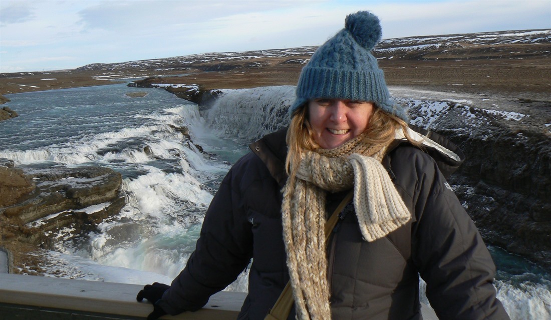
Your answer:
[[[142,285],[133,284],[0,274],[0,313],[36,312],[34,319],[42,318],[40,312],[109,314],[109,318],[114,319],[117,317],[112,316],[143,319],[153,311],[153,306],[136,301],[136,294],[142,288]],[[210,297],[207,305],[199,311],[163,319],[235,319],[245,296],[242,292],[219,292]]]

